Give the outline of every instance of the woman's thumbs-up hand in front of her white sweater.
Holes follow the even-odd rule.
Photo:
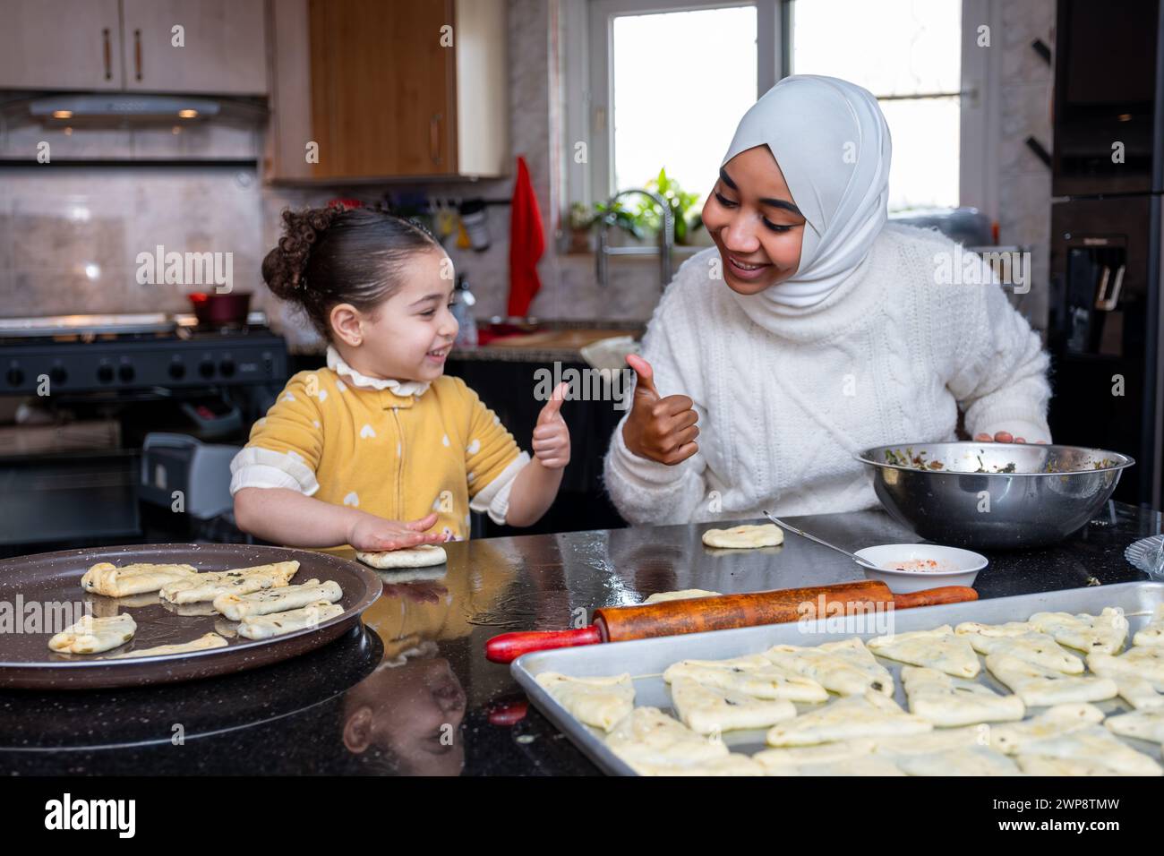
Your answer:
[[[626,365],[638,375],[630,416],[623,423],[623,441],[639,458],[674,465],[700,451],[695,438],[698,415],[686,395],[659,395],[651,363],[627,354]]]

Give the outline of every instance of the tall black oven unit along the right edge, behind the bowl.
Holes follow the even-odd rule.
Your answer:
[[[1161,0],[1059,0],[1053,127],[1051,434],[1130,454],[1116,498],[1161,508]]]

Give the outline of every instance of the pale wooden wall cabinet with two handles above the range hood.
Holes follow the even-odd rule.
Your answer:
[[[0,89],[267,94],[264,0],[5,0],[0,9]]]

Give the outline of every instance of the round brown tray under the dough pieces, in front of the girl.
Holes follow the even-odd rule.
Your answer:
[[[197,639],[204,634],[232,629],[219,614],[182,615],[185,608],[163,606],[158,595],[105,597],[88,594],[80,578],[98,561],[126,565],[135,561],[185,563],[199,571],[226,571],[233,567],[265,565],[272,561],[299,561],[292,585],[312,578],[334,580],[343,589],[340,606],[343,613],[317,628],[298,630],[274,639],[251,641],[228,636],[226,648],[163,657],[100,659],[135,649],[168,645]],[[370,607],[383,590],[383,582],[370,568],[325,553],[247,544],[144,544],[93,550],[65,550],[0,561],[0,603],[13,609],[15,628],[0,632],[0,686],[38,689],[88,689],[94,687],[143,686],[208,678],[241,672],[296,657],[332,642]],[[128,611],[137,622],[133,639],[101,655],[62,655],[49,649],[52,632],[23,632],[30,621],[30,609],[41,610],[41,630],[47,627],[54,604],[72,604],[79,616],[85,603],[92,603],[93,615]],[[140,606],[134,606],[139,603]],[[22,609],[17,609],[22,604]],[[38,606],[29,606],[38,604]],[[208,604],[192,604],[208,606]],[[56,607],[59,609],[59,607]]]

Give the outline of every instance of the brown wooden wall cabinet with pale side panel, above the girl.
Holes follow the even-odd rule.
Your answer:
[[[269,181],[506,172],[504,0],[279,0],[271,15]]]

